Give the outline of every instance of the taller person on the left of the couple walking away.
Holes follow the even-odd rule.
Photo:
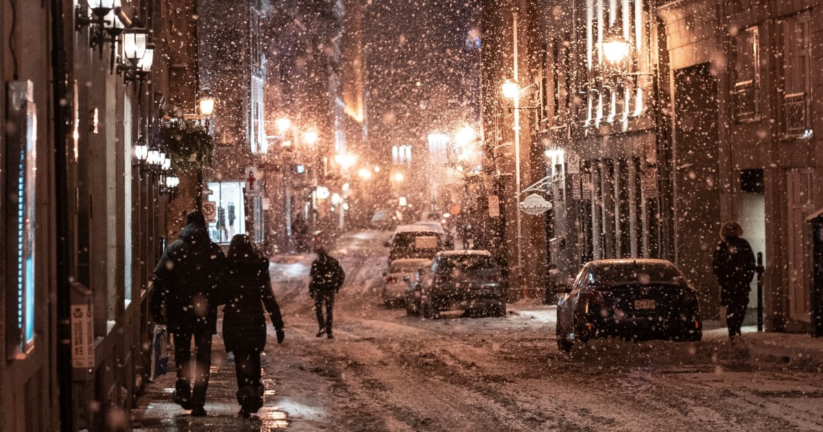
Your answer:
[[[169,245],[155,267],[151,314],[156,323],[166,323],[174,334],[177,383],[172,400],[192,410],[192,416],[206,415],[203,406],[212,367],[212,335],[217,332],[220,301],[217,289],[224,260],[220,246],[209,239],[202,212],[193,211],[186,216],[180,238]]]

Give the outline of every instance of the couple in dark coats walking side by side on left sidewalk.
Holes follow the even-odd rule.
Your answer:
[[[180,238],[169,245],[157,263],[151,314],[156,323],[166,324],[174,334],[177,383],[172,399],[184,409],[192,410],[192,416],[206,416],[212,335],[217,332],[220,304],[226,304],[223,309],[226,352],[235,356],[239,416],[249,417],[263,406],[260,353],[267,339],[263,307],[277,332],[277,343],[282,343],[285,337],[268,266],[268,258],[248,235],[235,235],[224,255],[220,246],[209,238],[206,220],[200,211],[188,214]]]

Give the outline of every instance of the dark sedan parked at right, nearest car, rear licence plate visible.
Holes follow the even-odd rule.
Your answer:
[[[700,341],[697,292],[672,262],[605,259],[588,262],[557,304],[557,346],[597,337]]]

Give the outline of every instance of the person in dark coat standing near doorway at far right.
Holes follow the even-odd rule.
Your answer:
[[[751,279],[755,276],[755,253],[746,239],[742,226],[729,221],[720,230],[720,243],[714,249],[714,277],[720,284],[720,304],[726,306],[728,337],[741,334],[740,327],[749,305]]]

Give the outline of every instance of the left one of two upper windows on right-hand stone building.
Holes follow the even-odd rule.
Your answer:
[[[756,120],[760,87],[759,32],[757,27],[741,30],[734,39],[734,89],[732,109],[738,122]]]

